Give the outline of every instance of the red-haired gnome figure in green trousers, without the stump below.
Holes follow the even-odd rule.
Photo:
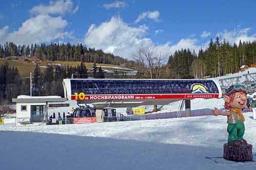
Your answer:
[[[246,87],[243,85],[230,86],[226,94],[223,96],[226,111],[220,111],[215,108],[211,110],[211,114],[218,116],[227,116],[228,144],[234,146],[246,145],[247,141],[243,138],[245,132],[244,115],[242,109],[247,104]]]

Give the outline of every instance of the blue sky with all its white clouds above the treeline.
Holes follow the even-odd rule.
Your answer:
[[[141,46],[173,53],[217,35],[253,41],[255,1],[2,1],[0,43],[83,43],[131,58]]]

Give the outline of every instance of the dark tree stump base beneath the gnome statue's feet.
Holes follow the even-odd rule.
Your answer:
[[[225,143],[223,145],[223,158],[230,161],[246,162],[252,161],[252,145],[233,146]]]

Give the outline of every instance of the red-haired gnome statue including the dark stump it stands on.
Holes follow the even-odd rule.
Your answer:
[[[233,161],[251,161],[252,145],[247,144],[247,141],[243,138],[245,118],[242,109],[247,104],[246,88],[242,85],[232,85],[227,89],[223,98],[226,111],[220,111],[217,108],[211,110],[212,115],[227,116],[228,143],[224,144],[223,157]]]

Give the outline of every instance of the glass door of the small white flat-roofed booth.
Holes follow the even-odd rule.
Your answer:
[[[42,122],[45,117],[45,105],[31,106],[31,122]]]

